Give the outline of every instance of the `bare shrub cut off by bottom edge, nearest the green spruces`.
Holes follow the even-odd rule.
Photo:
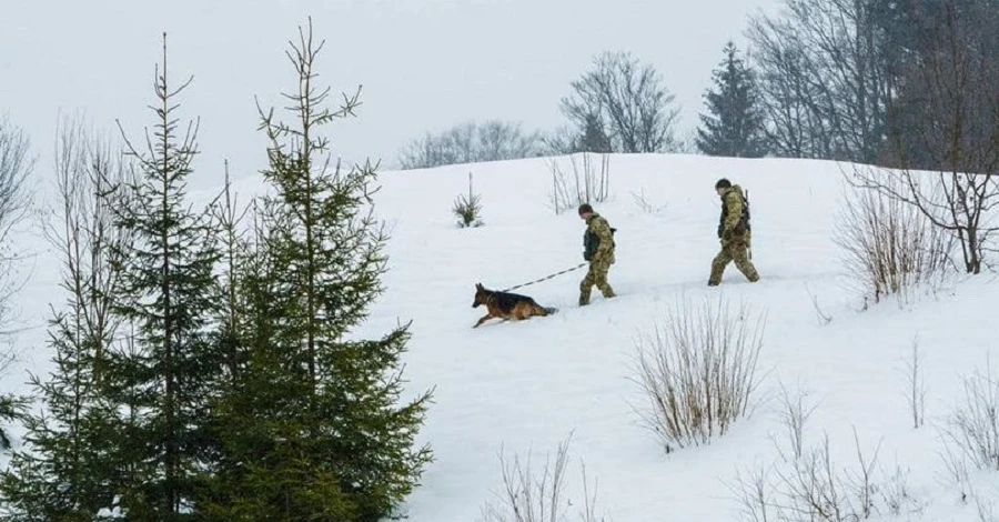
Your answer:
[[[554,462],[551,455],[545,459],[544,468],[536,474],[531,469],[531,455],[521,465],[519,455],[507,460],[500,451],[500,463],[503,468],[504,490],[497,494],[497,503],[482,506],[481,522],[561,522],[566,520],[567,508],[572,502],[565,493],[565,472],[568,466],[568,445],[572,434],[555,452]],[[583,511],[578,513],[582,522],[602,522],[603,516],[596,514],[596,486],[593,492],[586,478],[586,466],[581,463],[583,476]]]

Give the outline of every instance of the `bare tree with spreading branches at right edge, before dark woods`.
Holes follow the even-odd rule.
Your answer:
[[[999,38],[990,31],[999,13],[982,3],[958,10],[947,0],[928,58],[909,71],[924,112],[914,128],[891,130],[900,164],[892,172],[900,182],[856,177],[859,185],[914,205],[952,233],[968,273],[981,271],[999,230],[991,215],[999,207],[999,63],[991,57]],[[934,171],[917,171],[915,154],[928,155]]]

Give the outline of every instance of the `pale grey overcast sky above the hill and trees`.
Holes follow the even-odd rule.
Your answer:
[[[313,17],[327,40],[320,80],[363,84],[360,118],[335,123],[336,153],[382,159],[426,130],[498,118],[525,129],[563,123],[558,100],[604,50],[652,63],[697,124],[702,94],[728,39],[779,0],[6,0],[0,14],[0,113],[22,127],[48,177],[58,114],[85,110],[99,130],[131,137],[153,123],[154,66],[194,77],[181,118],[201,117],[195,188],[263,164],[254,97],[294,87],[284,51]],[[169,9],[162,11],[163,8]],[[115,135],[117,137],[117,135]]]

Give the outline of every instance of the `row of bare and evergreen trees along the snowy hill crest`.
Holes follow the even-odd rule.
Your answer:
[[[728,42],[693,140],[663,77],[628,52],[604,52],[561,100],[554,132],[502,120],[411,142],[404,169],[573,152],[692,151],[727,157],[947,167],[941,123],[979,107],[962,137],[990,139],[999,98],[997,0],[785,0],[748,20],[745,53]],[[952,124],[950,127],[953,127]],[[503,132],[498,132],[502,129]],[[488,145],[486,145],[488,143]]]

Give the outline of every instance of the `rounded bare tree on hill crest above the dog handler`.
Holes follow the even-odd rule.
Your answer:
[[[562,100],[562,111],[589,145],[601,143],[596,131],[606,121],[613,147],[608,152],[668,152],[676,148],[674,127],[679,109],[672,107],[676,97],[650,64],[640,64],[628,52],[604,52],[572,88],[573,96]]]

